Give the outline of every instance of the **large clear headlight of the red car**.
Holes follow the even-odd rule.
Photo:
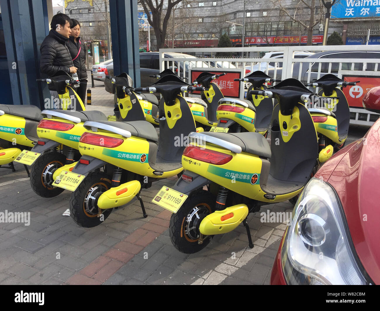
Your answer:
[[[312,178],[293,210],[281,249],[288,284],[366,284],[332,187]]]

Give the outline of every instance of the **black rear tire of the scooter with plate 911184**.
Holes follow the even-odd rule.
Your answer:
[[[94,189],[95,187],[95,189]],[[99,209],[96,198],[111,188],[111,181],[104,172],[90,173],[71,194],[70,215],[74,221],[84,228],[100,225],[112,212],[112,208],[103,211],[103,219],[98,217]],[[89,197],[94,197],[95,199]],[[86,199],[86,200],[85,200]]]

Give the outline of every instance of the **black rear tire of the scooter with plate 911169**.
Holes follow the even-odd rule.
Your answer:
[[[195,214],[195,208],[198,209],[198,216],[200,220],[207,216],[208,214],[214,212],[215,208],[215,197],[210,192],[206,190],[195,190],[193,191],[185,203],[180,207],[177,213],[172,214],[170,218],[169,233],[171,241],[176,249],[185,254],[194,254],[203,249],[207,244],[209,244],[210,238],[203,241],[202,244],[198,244],[199,240],[199,230],[191,230],[187,232],[188,227],[188,216]],[[192,222],[192,217],[190,217],[190,222]],[[199,223],[196,227],[199,228]],[[194,222],[192,222],[194,225]]]

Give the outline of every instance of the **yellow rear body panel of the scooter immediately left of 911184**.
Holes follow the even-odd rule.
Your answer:
[[[68,131],[57,131],[51,129],[44,129],[42,127],[37,127],[37,135],[40,138],[46,138],[49,140],[54,140],[57,143],[69,146],[71,148],[78,150],[79,138],[86,131],[83,127],[84,122],[75,123],[66,119],[61,119],[58,117],[52,117],[52,119],[44,118],[44,120],[57,121],[63,123],[74,124],[74,127]]]

